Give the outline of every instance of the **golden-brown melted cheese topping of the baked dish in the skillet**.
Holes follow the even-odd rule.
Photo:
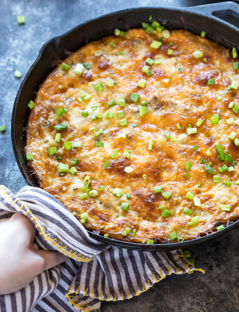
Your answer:
[[[70,66],[69,71],[57,66],[42,83],[34,100],[25,148],[34,155],[29,166],[39,186],[71,212],[76,212],[79,220],[81,213],[87,212],[89,219],[85,227],[100,235],[108,233],[109,237],[120,240],[145,243],[152,239],[165,243],[172,241],[170,234],[175,231],[178,237],[188,240],[216,231],[216,226],[235,221],[239,215],[239,185],[234,184],[239,178],[238,166],[225,160],[220,162],[215,148],[221,144],[225,153],[239,161],[239,147],[228,138],[231,131],[239,138],[238,115],[228,108],[230,102],[238,100],[239,94],[238,90],[227,89],[232,81],[239,81],[232,66],[235,59],[229,50],[206,38],[184,30],[172,30],[170,34],[158,49],[150,47],[153,40],[158,40],[156,30],[148,34],[143,29],[131,29],[126,37],[111,36],[91,42],[64,60]],[[115,48],[109,45],[110,41]],[[172,56],[168,55],[168,49],[173,50]],[[95,56],[97,50],[102,50],[101,56]],[[202,51],[203,56],[195,58],[194,51]],[[117,52],[124,54],[116,55]],[[148,65],[147,57],[154,61],[161,58],[162,62]],[[84,62],[88,62],[91,69],[84,68],[82,75],[75,74],[76,64]],[[144,65],[150,67],[151,76],[142,72]],[[146,80],[144,88],[137,85],[141,78]],[[215,84],[208,85],[208,79],[212,78]],[[107,86],[108,79],[117,84]],[[95,90],[97,82],[101,82],[103,90]],[[90,94],[91,99],[78,100],[80,91]],[[132,93],[140,95],[138,104],[131,100]],[[222,97],[221,101],[218,96]],[[116,105],[109,107],[112,99]],[[125,107],[119,106],[119,99],[125,100]],[[142,101],[147,101],[147,113],[140,117]],[[112,112],[113,118],[92,120],[94,105],[103,115]],[[59,107],[67,108],[68,112],[57,117]],[[88,111],[87,117],[81,115],[82,110]],[[127,126],[119,123],[122,117],[118,117],[118,110],[123,110]],[[219,110],[219,123],[211,124],[211,116]],[[231,117],[234,122],[227,124],[226,120]],[[200,118],[203,123],[197,127]],[[62,122],[68,125],[67,129],[54,129]],[[181,129],[176,124],[180,124]],[[188,124],[197,128],[196,134],[187,134]],[[99,129],[103,133],[95,136],[94,131]],[[56,143],[54,138],[58,132],[61,140]],[[168,132],[170,139],[166,139]],[[66,150],[65,141],[71,141],[72,146],[81,141],[82,147]],[[98,141],[104,146],[96,147]],[[153,141],[152,150],[148,149],[150,141]],[[192,148],[195,144],[196,151]],[[52,146],[57,147],[57,153],[48,156],[47,149]],[[131,158],[123,157],[125,149],[130,151]],[[119,154],[111,158],[115,150]],[[77,158],[77,173],[60,176],[58,156],[69,168],[73,158]],[[213,183],[213,174],[200,163],[201,158],[205,165],[212,163],[219,183]],[[106,169],[104,163],[108,159]],[[188,161],[192,167],[186,171]],[[223,164],[232,166],[234,171],[220,173],[218,167]],[[126,167],[131,167],[132,172],[127,173]],[[82,200],[79,196],[85,193],[86,175],[90,176],[91,189],[97,190],[98,195]],[[226,186],[224,180],[230,180],[232,185]],[[200,182],[202,185],[198,187]],[[100,190],[101,185],[105,186],[104,191]],[[162,193],[155,193],[154,186],[162,186],[163,192],[172,195],[167,199]],[[113,195],[115,188],[121,188],[124,194]],[[200,207],[186,198],[187,192],[200,199]],[[127,211],[121,209],[122,202],[129,204]],[[231,210],[222,211],[222,204],[230,205]],[[173,214],[163,217],[159,206]],[[190,215],[183,212],[186,208],[192,210]],[[200,214],[198,210],[201,212],[198,223],[188,225],[187,222]],[[125,228],[130,232],[122,236]],[[133,229],[136,233],[131,237]]]

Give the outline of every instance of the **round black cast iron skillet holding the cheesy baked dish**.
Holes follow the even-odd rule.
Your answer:
[[[97,17],[85,22],[59,37],[47,41],[39,51],[36,60],[27,71],[12,111],[12,145],[18,167],[27,184],[37,186],[26,164],[23,152],[25,146],[25,132],[29,109],[27,103],[33,100],[38,86],[45,80],[47,75],[54,69],[60,60],[65,59],[67,51],[76,51],[90,41],[112,35],[115,28],[126,30],[127,28],[141,27],[141,22],[148,21],[150,15],[152,20],[158,20],[167,27],[187,29],[195,34],[202,30],[207,32],[207,38],[232,48],[239,48],[238,28],[222,20],[225,16],[239,20],[239,5],[234,2],[221,2],[204,6],[170,8],[170,7],[145,7],[128,9],[120,12]],[[222,19],[221,19],[221,18]],[[221,235],[239,225],[239,220],[228,225],[219,232],[213,232],[206,236],[198,237],[190,241],[170,244],[137,244],[100,236],[89,232],[90,236],[107,244],[120,246],[128,249],[145,251],[176,250],[192,246],[212,237]]]

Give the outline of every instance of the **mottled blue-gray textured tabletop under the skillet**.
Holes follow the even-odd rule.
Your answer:
[[[15,162],[10,137],[12,106],[22,80],[14,77],[14,71],[18,69],[24,75],[45,41],[87,19],[127,7],[196,4],[199,1],[1,1],[0,124],[6,124],[7,131],[0,134],[0,183],[12,192],[26,185]],[[17,24],[19,14],[24,14],[25,25]],[[220,238],[190,248],[196,267],[203,268],[204,275],[194,272],[168,276],[131,300],[103,302],[102,311],[239,311],[238,240],[236,228]]]

